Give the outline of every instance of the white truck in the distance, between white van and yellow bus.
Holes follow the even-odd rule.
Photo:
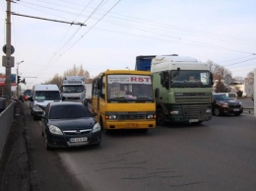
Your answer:
[[[66,76],[60,87],[61,96],[65,101],[86,104],[86,85],[84,76]]]

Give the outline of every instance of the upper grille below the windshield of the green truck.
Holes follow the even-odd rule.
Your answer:
[[[181,93],[175,94],[176,103],[209,103],[212,94],[210,93]]]

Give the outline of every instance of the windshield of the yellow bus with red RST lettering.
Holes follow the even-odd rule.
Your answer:
[[[108,101],[153,101],[151,76],[108,75]]]

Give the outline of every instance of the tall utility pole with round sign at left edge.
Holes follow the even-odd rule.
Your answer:
[[[5,106],[11,104],[11,0],[6,0],[6,63],[5,64]]]

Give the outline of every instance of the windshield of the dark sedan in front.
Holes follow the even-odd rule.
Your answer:
[[[83,117],[92,117],[91,113],[84,105],[54,105],[51,107],[49,113],[50,119],[72,119]]]

